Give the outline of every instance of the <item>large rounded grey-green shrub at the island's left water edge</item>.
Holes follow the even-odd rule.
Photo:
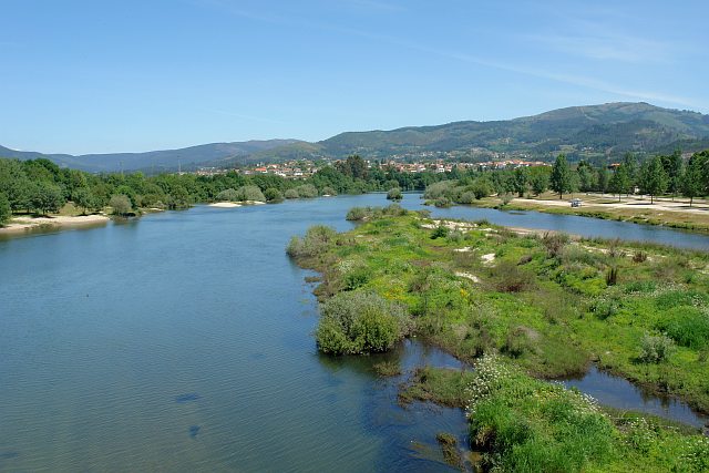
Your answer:
[[[316,340],[325,353],[387,351],[410,329],[403,309],[373,292],[340,292],[320,312]]]

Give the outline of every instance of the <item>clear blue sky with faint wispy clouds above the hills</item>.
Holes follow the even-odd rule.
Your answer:
[[[645,101],[709,113],[709,2],[1,0],[0,144],[148,151]]]

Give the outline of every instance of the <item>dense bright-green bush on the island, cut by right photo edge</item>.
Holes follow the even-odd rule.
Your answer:
[[[657,328],[681,347],[698,350],[709,343],[709,313],[696,307],[669,309]]]

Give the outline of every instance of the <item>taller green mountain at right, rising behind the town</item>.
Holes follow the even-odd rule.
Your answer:
[[[709,137],[709,115],[647,103],[573,106],[521,119],[455,122],[392,131],[348,132],[325,140],[323,152],[387,156],[480,148],[544,157],[566,152],[651,152],[680,141]]]

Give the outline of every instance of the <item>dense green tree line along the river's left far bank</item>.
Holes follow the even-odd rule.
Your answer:
[[[90,174],[62,168],[47,158],[0,158],[0,225],[12,214],[48,215],[72,202],[82,213],[111,207],[119,215],[142,208],[178,209],[216,200],[281,202],[318,195],[361,194],[372,191],[423,191],[446,178],[436,173],[409,175],[376,165],[368,168],[360,156],[327,166],[305,179],[270,174],[228,172],[214,176],[135,173]]]

